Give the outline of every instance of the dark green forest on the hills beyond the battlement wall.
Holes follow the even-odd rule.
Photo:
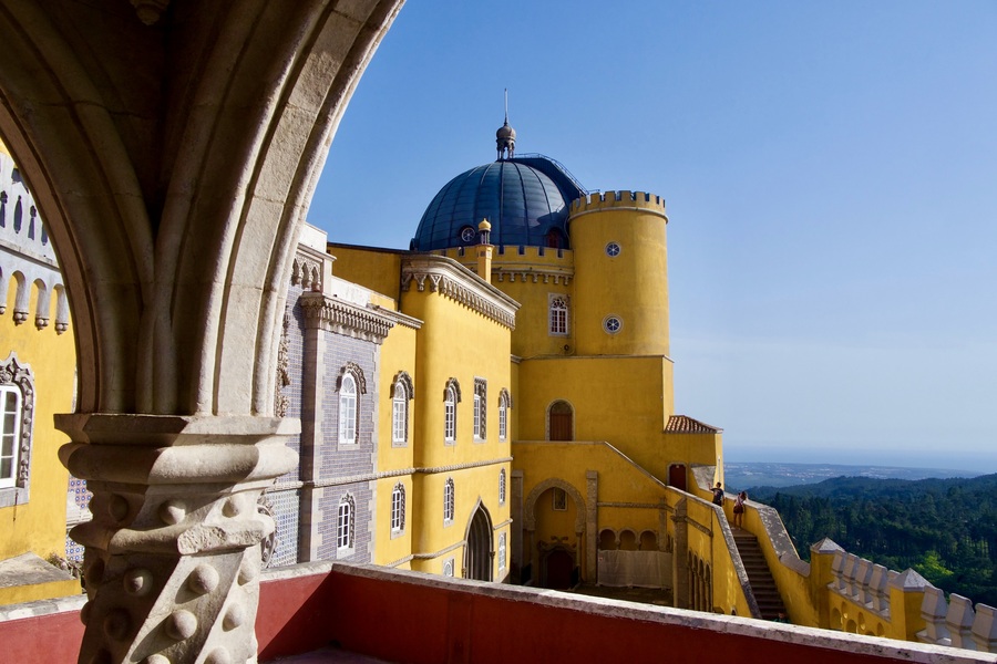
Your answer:
[[[997,475],[837,477],[750,494],[779,510],[804,560],[810,544],[828,537],[850,553],[892,570],[914,568],[947,593],[997,606]]]

